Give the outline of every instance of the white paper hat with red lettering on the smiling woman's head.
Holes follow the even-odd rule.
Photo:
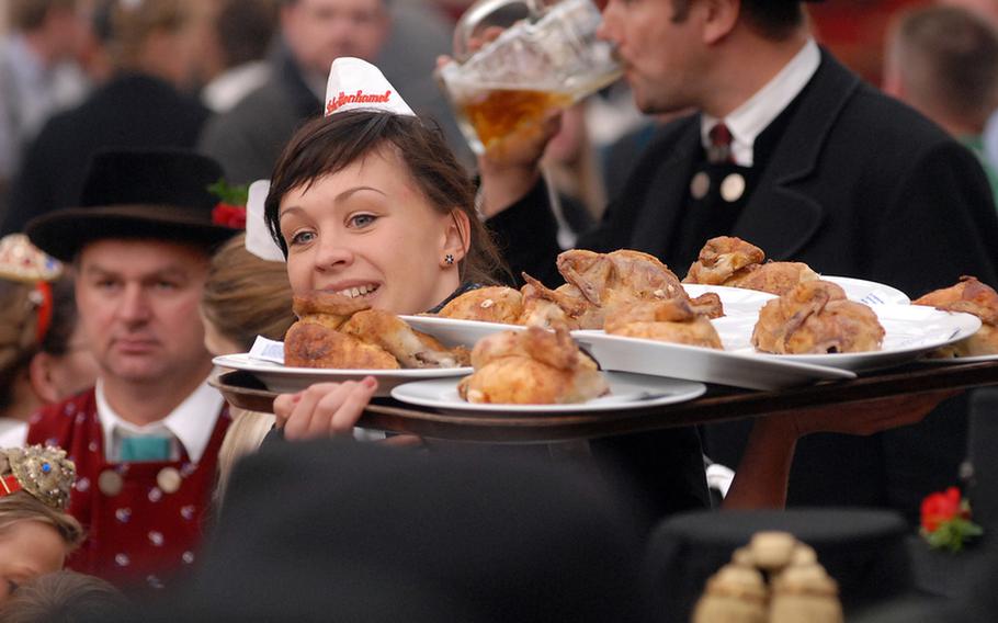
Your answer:
[[[342,111],[374,110],[416,116],[409,104],[366,60],[343,56],[332,61],[326,84],[326,116]]]

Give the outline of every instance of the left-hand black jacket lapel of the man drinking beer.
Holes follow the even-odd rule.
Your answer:
[[[632,249],[659,258],[669,258],[668,246],[687,203],[693,165],[700,158],[700,115],[691,116],[677,132],[679,138],[674,143],[666,141],[672,144],[670,152],[651,169],[654,177],[639,200],[643,205],[631,234]]]

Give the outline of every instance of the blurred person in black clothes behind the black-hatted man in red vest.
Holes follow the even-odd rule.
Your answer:
[[[193,0],[117,0],[106,43],[114,77],[80,106],[54,116],[29,147],[0,230],[75,205],[102,148],[193,147],[207,110],[182,93],[199,73]]]

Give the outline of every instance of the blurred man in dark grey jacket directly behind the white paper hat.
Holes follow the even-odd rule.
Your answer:
[[[450,31],[441,19],[434,20],[432,9],[415,2],[404,0],[389,8],[384,0],[282,0],[270,79],[208,122],[201,150],[222,163],[230,182],[270,178],[294,131],[321,115],[332,61],[353,56],[377,60],[409,105],[434,117],[452,148],[468,155],[470,162],[432,77],[435,56],[450,50]]]

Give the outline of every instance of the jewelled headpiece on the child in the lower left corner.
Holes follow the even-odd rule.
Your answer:
[[[65,450],[47,445],[0,450],[0,497],[24,491],[65,511],[75,480],[76,465]]]

